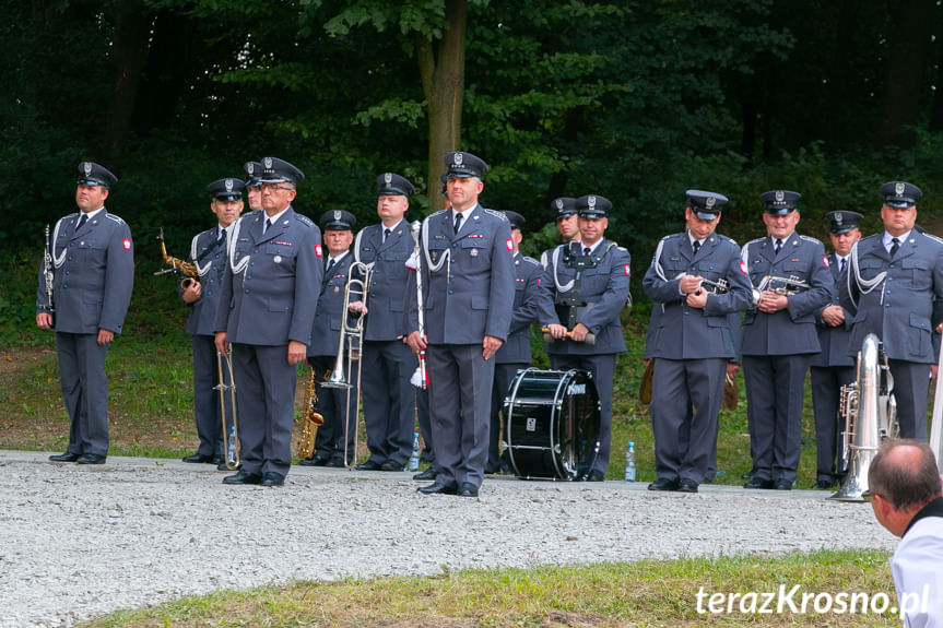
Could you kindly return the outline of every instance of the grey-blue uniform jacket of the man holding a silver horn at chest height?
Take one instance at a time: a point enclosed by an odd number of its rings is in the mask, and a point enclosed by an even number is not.
[[[789,307],[775,313],[748,309],[743,318],[743,355],[798,355],[818,353],[815,312],[832,303],[835,282],[828,272],[825,247],[795,232],[774,253],[769,237],[743,247],[743,263],[755,287],[766,276],[795,277],[810,287],[789,297]]]

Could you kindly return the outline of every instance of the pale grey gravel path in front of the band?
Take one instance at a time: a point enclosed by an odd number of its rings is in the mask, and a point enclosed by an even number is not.
[[[47,455],[0,450],[2,628],[294,579],[896,544],[867,505],[821,491],[497,477],[467,499],[422,496],[405,473],[293,467],[281,488],[224,487],[210,465]]]

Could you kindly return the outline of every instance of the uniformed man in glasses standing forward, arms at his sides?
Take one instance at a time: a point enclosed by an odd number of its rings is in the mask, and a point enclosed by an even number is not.
[[[321,232],[292,209],[304,176],[285,161],[262,159],[262,211],[236,221],[228,239],[213,327],[216,349],[233,347],[243,467],[225,484],[281,486],[292,464],[297,364],[323,276]]]

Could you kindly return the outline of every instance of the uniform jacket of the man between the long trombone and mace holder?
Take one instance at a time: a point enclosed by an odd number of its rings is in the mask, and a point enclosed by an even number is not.
[[[410,281],[406,260],[414,246],[410,224],[404,220],[390,232],[386,242],[382,224],[364,227],[357,234],[354,258],[358,262],[373,264],[364,340],[392,341],[405,335],[403,305],[406,303]]]

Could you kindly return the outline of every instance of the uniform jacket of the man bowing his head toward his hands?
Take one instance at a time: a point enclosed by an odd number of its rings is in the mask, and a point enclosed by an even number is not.
[[[735,321],[739,327],[739,320],[729,315],[746,309],[753,296],[750,279],[740,263],[740,247],[726,236],[711,234],[695,254],[687,232],[682,232],[665,236],[660,248],[661,254],[652,258],[643,280],[645,294],[652,300],[655,321],[646,357],[734,358],[739,330],[732,329],[731,323]],[[682,274],[700,275],[712,282],[724,280],[728,292],[708,294],[704,309],[691,308],[677,288],[676,277]],[[704,288],[710,293],[710,288]]]

